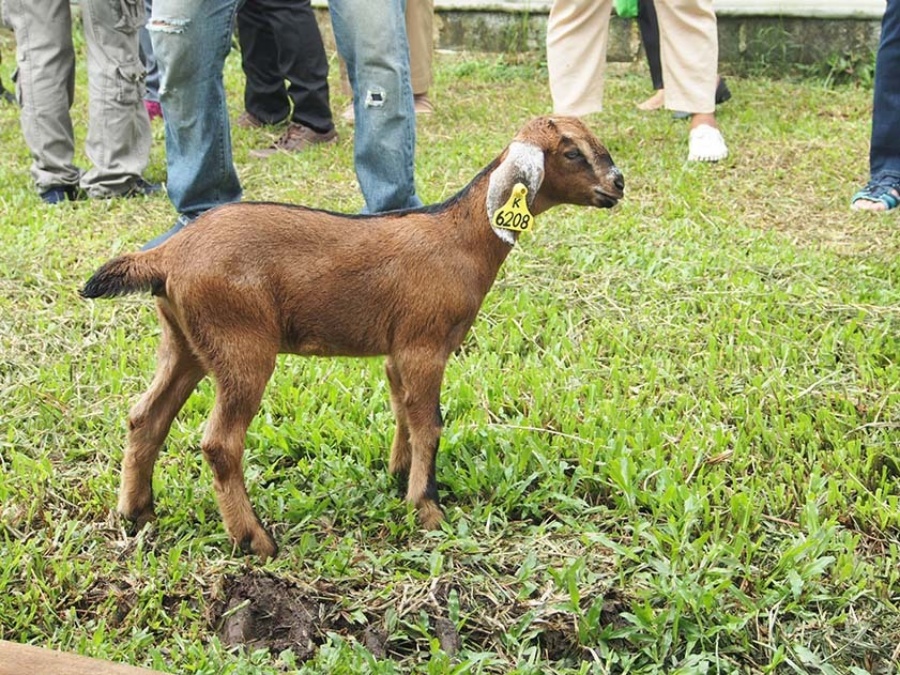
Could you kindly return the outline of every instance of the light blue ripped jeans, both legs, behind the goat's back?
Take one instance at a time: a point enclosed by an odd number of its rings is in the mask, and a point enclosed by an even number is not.
[[[241,198],[223,69],[239,0],[153,0],[147,29],[160,70],[169,198],[192,219]],[[421,204],[413,179],[415,113],[405,0],[331,0],[354,96],[354,163],[366,212]],[[302,184],[303,177],[297,180]],[[315,195],[304,201],[316,205]]]

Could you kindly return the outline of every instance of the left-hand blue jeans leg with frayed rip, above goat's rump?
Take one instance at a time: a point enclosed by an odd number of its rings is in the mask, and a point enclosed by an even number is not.
[[[153,0],[147,24],[166,125],[166,187],[188,218],[241,198],[223,80],[238,4]]]

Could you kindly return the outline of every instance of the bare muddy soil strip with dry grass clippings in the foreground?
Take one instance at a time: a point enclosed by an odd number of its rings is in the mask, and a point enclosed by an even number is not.
[[[469,617],[464,636],[447,618],[451,589]],[[534,605],[508,602],[502,597],[474,597],[463,587],[436,580],[405,588],[401,597],[393,600],[386,601],[380,593],[368,601],[360,598],[353,611],[346,606],[348,595],[365,596],[365,592],[328,584],[301,587],[286,579],[248,573],[223,579],[209,606],[209,616],[219,638],[229,646],[269,649],[273,654],[290,650],[298,661],[305,661],[315,655],[329,633],[338,633],[365,645],[378,659],[402,662],[427,652],[428,640],[434,638],[451,657],[459,654],[464,645],[478,651],[499,649],[501,626],[515,625],[525,614],[537,611],[542,615],[539,639],[547,658],[584,657],[577,633],[573,632],[571,614],[543,606],[542,601]],[[616,595],[608,595],[601,623],[620,623],[619,613],[624,607]],[[389,614],[401,621],[419,622],[427,617],[429,635],[413,635],[404,630],[388,632],[385,621]],[[360,615],[365,617],[362,622]],[[484,619],[483,625],[479,617]]]

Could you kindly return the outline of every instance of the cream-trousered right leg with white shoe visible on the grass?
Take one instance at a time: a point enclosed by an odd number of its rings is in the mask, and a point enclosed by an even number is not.
[[[689,160],[728,156],[716,123],[719,37],[712,0],[669,0],[656,6],[666,107],[691,114]]]

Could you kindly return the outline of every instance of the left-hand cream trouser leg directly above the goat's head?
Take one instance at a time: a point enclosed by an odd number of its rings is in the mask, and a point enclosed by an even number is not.
[[[612,0],[556,0],[547,20],[547,70],[553,110],[587,115],[603,109]]]

